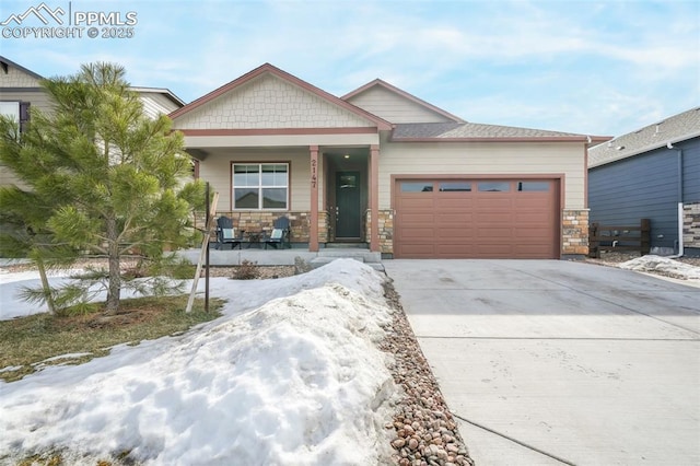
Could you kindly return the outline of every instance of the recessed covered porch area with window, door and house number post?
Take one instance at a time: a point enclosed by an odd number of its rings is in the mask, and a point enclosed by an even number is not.
[[[308,145],[288,140],[273,145],[271,137],[265,145],[250,140],[223,145],[220,138],[184,132],[195,175],[219,193],[217,217],[231,218],[238,233],[269,232],[284,215],[295,251],[347,245],[381,252],[371,221],[378,211],[376,132]]]

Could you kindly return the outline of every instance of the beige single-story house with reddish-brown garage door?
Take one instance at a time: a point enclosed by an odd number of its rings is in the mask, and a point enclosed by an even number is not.
[[[587,254],[586,150],[609,138],[466,123],[375,80],[336,97],[269,63],[173,112],[218,213],[396,258]]]

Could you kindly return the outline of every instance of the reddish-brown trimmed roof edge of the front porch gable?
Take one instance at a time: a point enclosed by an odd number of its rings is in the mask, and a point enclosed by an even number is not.
[[[375,124],[377,126],[377,129],[380,130],[388,130],[392,129],[392,124],[386,121],[385,119],[380,118],[376,115],[373,115],[355,105],[352,105],[349,102],[346,102],[341,98],[336,97],[332,94],[329,94],[328,92],[316,88],[313,84],[307,83],[306,81],[303,81],[290,73],[288,73],[287,71],[282,71],[281,69],[270,65],[270,63],[264,63],[261,66],[259,66],[258,68],[254,69],[253,71],[247,72],[246,74],[243,74],[242,77],[231,81],[228,84],[222,85],[219,89],[215,89],[213,91],[211,91],[210,93],[197,98],[196,101],[192,101],[191,103],[185,105],[182,108],[178,108],[177,110],[173,112],[172,114],[170,114],[170,117],[175,119],[178,118],[205,104],[207,104],[208,102],[211,102],[213,100],[215,100],[217,97],[228,93],[229,91],[232,91],[241,85],[244,85],[248,82],[250,82],[252,80],[264,75],[264,74],[272,74],[276,75],[277,78],[280,78],[284,81],[288,81],[296,86],[300,86],[302,89],[304,89],[307,92],[311,92],[313,94],[316,94],[317,96],[319,96],[320,98],[329,102],[330,104],[337,105],[339,107],[345,108],[346,110],[349,110],[350,113],[353,113],[362,118],[365,118],[370,121],[372,121],[373,124]]]

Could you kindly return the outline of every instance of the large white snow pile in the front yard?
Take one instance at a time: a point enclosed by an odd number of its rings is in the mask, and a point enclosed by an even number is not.
[[[36,277],[11,276],[0,275],[1,318],[32,312],[7,295]],[[382,282],[350,259],[212,279],[228,300],[214,322],[0,382],[0,458],[58,447],[70,464],[125,451],[149,465],[386,463],[396,387],[376,347],[390,319]]]

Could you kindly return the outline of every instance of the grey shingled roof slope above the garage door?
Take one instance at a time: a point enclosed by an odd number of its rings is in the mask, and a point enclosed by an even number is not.
[[[582,141],[600,142],[609,138],[586,136],[575,132],[548,131],[544,129],[518,128],[513,126],[482,125],[476,123],[417,123],[398,124],[393,133],[393,141],[428,142],[428,141]]]

